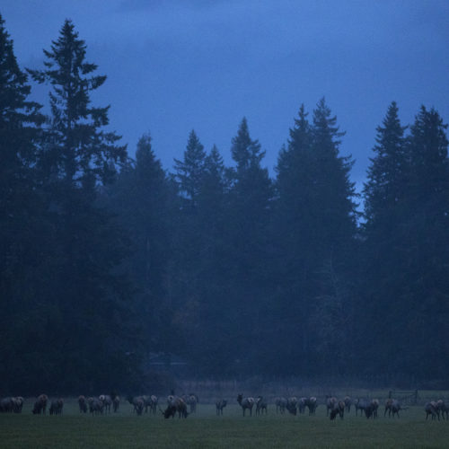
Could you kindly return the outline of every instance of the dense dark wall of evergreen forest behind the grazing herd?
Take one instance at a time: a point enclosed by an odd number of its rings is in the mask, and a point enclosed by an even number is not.
[[[72,22],[44,57],[21,68],[0,17],[2,394],[132,389],[150,353],[198,377],[447,379],[436,110],[406,126],[392,101],[360,194],[324,99],[286,124],[274,177],[244,118],[232,166],[192,130],[167,171],[149,134],[131,158],[92,105],[106,76]]]

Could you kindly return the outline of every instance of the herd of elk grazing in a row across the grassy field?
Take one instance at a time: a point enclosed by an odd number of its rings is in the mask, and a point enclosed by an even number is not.
[[[194,393],[184,394],[182,396],[176,396],[170,394],[166,400],[166,407],[162,409],[158,397],[155,395],[142,395],[142,396],[128,396],[128,402],[132,405],[132,411],[136,415],[140,416],[143,413],[150,413],[155,415],[157,409],[159,409],[164,418],[187,418],[189,414],[195,413],[198,406],[198,396]],[[255,409],[255,415],[267,415],[269,409],[269,401],[263,396],[257,397],[244,397],[243,394],[237,396],[237,402],[242,407],[243,417],[246,412],[252,416],[252,409]],[[8,397],[0,399],[0,413],[22,413],[24,399],[22,396]],[[349,396],[339,400],[335,396],[326,396],[325,402],[326,416],[330,420],[334,420],[339,416],[343,419],[345,412],[349,413],[351,407],[354,406],[356,410],[356,416],[365,416],[365,418],[377,418],[378,409],[380,407],[380,401],[377,399],[368,400],[365,398],[357,398],[353,401]],[[49,406],[48,406],[49,405]],[[98,397],[85,397],[83,395],[78,397],[78,407],[80,413],[89,413],[91,415],[109,414],[111,411],[117,413],[119,411],[120,398],[117,394],[101,394]],[[227,405],[225,399],[216,401],[216,415],[223,415],[224,409]],[[290,396],[288,398],[280,396],[274,399],[274,405],[276,406],[276,413],[285,414],[286,411],[292,415],[304,414],[308,411],[310,416],[315,415],[318,408],[318,400],[315,396],[301,397]],[[48,413],[50,415],[62,415],[64,408],[64,400],[57,398],[49,401],[46,394],[40,394],[34,401],[34,405],[31,409],[35,415],[46,414],[48,406]],[[388,414],[389,418],[400,417],[400,411],[407,409],[402,407],[400,401],[394,399],[387,399],[384,404],[383,417]],[[449,420],[449,406],[445,401],[429,401],[425,407],[426,419],[431,418],[433,420],[443,418]]]

